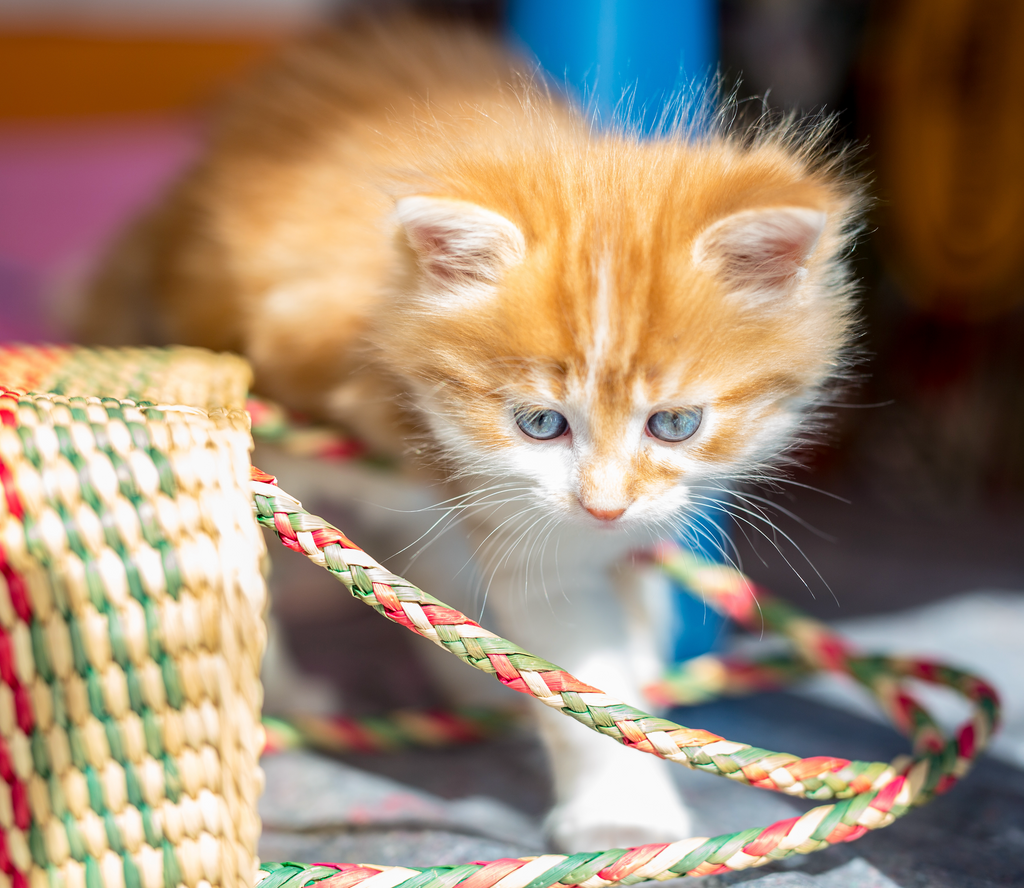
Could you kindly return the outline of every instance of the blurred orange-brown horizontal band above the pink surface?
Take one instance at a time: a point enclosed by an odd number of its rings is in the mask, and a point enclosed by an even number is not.
[[[282,39],[0,33],[0,120],[193,111]]]

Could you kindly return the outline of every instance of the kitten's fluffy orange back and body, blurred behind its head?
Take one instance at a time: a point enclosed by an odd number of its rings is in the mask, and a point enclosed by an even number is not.
[[[453,138],[521,128],[530,103],[549,123],[568,116],[469,27],[355,17],[290,47],[236,90],[203,158],[115,245],[80,338],[238,351],[259,388],[323,414],[392,277],[390,192],[429,184]]]

